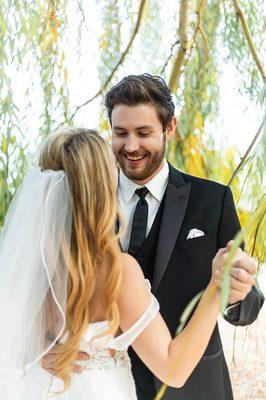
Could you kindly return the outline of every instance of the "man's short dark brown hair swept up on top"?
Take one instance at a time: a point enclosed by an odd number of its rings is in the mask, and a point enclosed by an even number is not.
[[[110,123],[112,123],[112,112],[116,105],[135,106],[141,103],[154,105],[165,131],[174,116],[175,105],[164,79],[150,74],[128,75],[109,90],[105,105]]]

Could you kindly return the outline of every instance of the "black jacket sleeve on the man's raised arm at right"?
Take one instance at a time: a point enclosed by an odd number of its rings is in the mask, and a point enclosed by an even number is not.
[[[232,192],[229,187],[226,187],[218,230],[218,247],[225,247],[229,240],[232,240],[240,229],[241,227],[237,217]],[[228,307],[224,318],[235,326],[250,325],[257,319],[263,302],[264,296],[262,292],[259,288],[253,286],[252,290],[243,301]]]

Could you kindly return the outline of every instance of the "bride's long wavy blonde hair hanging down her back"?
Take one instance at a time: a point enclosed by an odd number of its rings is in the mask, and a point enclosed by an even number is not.
[[[110,321],[119,325],[117,297],[121,286],[117,175],[110,146],[93,130],[76,128],[52,135],[40,155],[42,170],[64,170],[72,196],[72,237],[68,273],[67,341],[57,354],[56,372],[65,388],[80,340],[92,322],[95,298]]]

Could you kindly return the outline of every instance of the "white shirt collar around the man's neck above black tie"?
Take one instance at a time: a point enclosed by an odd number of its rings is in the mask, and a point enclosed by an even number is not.
[[[146,188],[149,192],[158,200],[162,201],[162,198],[165,193],[165,189],[168,183],[169,178],[169,165],[164,160],[163,168],[155,175],[148,183],[146,183]],[[131,181],[120,169],[119,172],[119,189],[120,193],[124,199],[124,202],[127,204],[134,196],[134,193],[137,188],[140,186],[135,182]]]

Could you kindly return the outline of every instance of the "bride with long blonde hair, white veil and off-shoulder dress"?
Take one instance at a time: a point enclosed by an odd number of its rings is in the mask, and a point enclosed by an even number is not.
[[[181,387],[219,313],[216,275],[174,339],[138,263],[122,254],[117,172],[94,131],[69,129],[44,144],[0,238],[1,400],[136,400],[127,349],[167,385]],[[53,374],[41,359],[56,343]],[[89,360],[72,364],[82,350]]]

